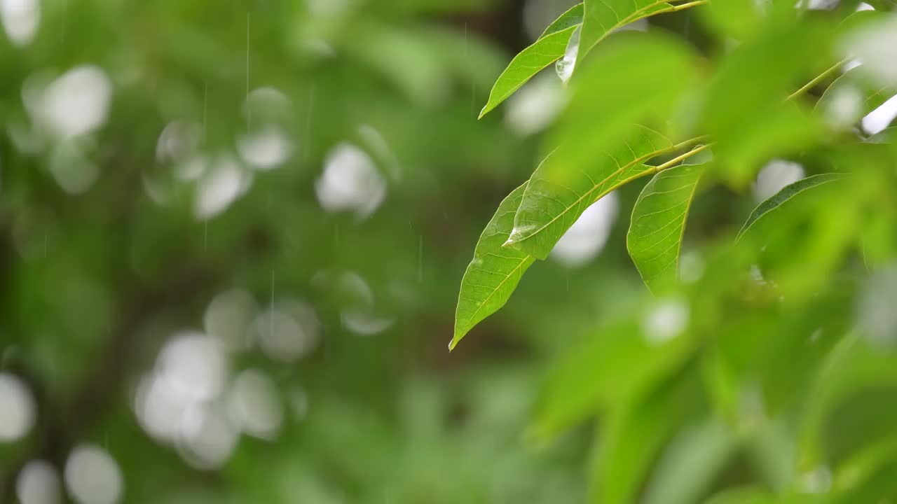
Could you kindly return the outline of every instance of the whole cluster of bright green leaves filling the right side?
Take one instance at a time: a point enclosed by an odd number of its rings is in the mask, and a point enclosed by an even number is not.
[[[897,499],[897,320],[884,308],[897,143],[858,126],[897,94],[897,62],[880,56],[895,18],[872,4],[586,0],[495,83],[481,116],[545,67],[574,65],[544,161],[476,244],[450,348],[588,206],[650,177],[626,245],[653,295],[562,356],[536,406],[539,439],[600,413],[593,501]],[[617,31],[692,8],[718,39],[709,54]],[[847,57],[863,65],[842,72]],[[777,158],[809,176],[688,241],[692,205],[733,199]]]

